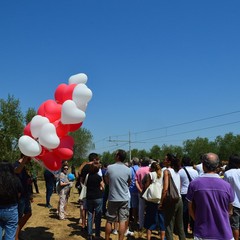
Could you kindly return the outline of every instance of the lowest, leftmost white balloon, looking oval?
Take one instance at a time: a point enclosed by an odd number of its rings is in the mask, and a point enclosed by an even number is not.
[[[23,135],[18,140],[20,151],[29,157],[36,157],[42,152],[41,145],[33,138]]]

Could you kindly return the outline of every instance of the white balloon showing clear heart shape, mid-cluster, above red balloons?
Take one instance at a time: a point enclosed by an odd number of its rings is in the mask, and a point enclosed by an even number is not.
[[[76,124],[83,122],[86,114],[76,106],[72,100],[67,100],[62,105],[61,122],[63,124]]]

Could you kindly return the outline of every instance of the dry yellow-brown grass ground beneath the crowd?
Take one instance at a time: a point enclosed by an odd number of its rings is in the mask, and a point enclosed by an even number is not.
[[[72,188],[69,203],[68,217],[65,221],[57,218],[58,195],[54,193],[51,198],[52,209],[45,207],[45,183],[38,181],[40,194],[34,194],[34,202],[32,203],[33,215],[21,232],[23,240],[80,240],[86,239],[86,232],[81,231],[79,225],[79,205],[77,204],[77,189]],[[101,236],[104,237],[105,219],[102,220]],[[133,237],[129,239],[146,239],[146,234],[139,235],[134,232]],[[117,236],[111,235],[113,240],[117,240]],[[159,239],[157,233],[153,234],[152,239]],[[175,238],[178,239],[178,238]]]

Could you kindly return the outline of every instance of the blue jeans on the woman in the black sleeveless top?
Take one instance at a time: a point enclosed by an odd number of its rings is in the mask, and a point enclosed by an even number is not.
[[[101,229],[101,218],[102,218],[102,203],[103,199],[87,199],[87,211],[88,211],[88,220],[87,220],[87,229],[88,235],[93,233],[93,213],[95,212],[95,235],[100,237]]]

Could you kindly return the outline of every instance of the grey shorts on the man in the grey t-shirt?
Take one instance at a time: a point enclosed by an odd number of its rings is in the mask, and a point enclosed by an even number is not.
[[[106,218],[108,222],[122,222],[127,221],[129,217],[129,202],[108,202]]]

